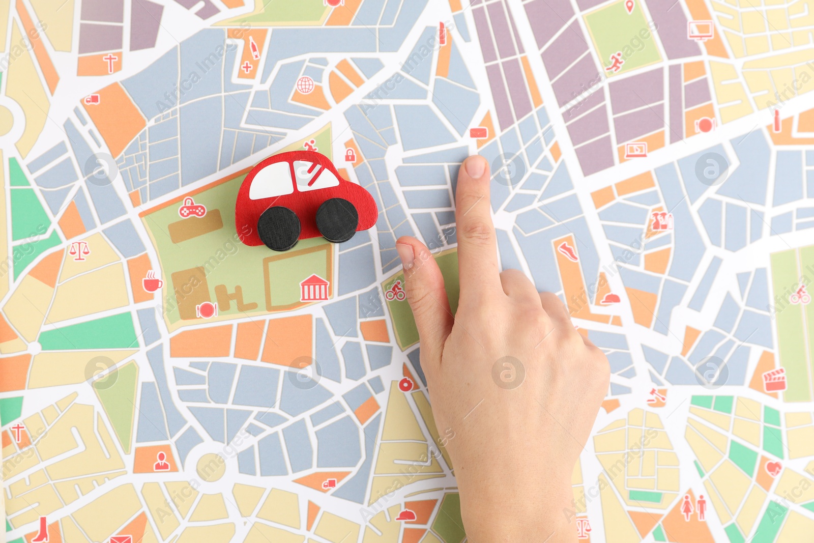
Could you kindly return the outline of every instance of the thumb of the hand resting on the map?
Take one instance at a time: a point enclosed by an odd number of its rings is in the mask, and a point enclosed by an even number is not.
[[[396,250],[405,270],[405,290],[421,339],[422,355],[438,364],[454,322],[444,276],[430,250],[418,239],[402,236],[396,241]]]

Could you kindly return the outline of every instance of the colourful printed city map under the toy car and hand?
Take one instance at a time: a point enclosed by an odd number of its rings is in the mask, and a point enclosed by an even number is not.
[[[474,153],[610,363],[578,541],[814,541],[812,41],[812,0],[0,0],[5,541],[466,541],[395,246],[454,311]],[[374,228],[243,245],[296,150]]]

